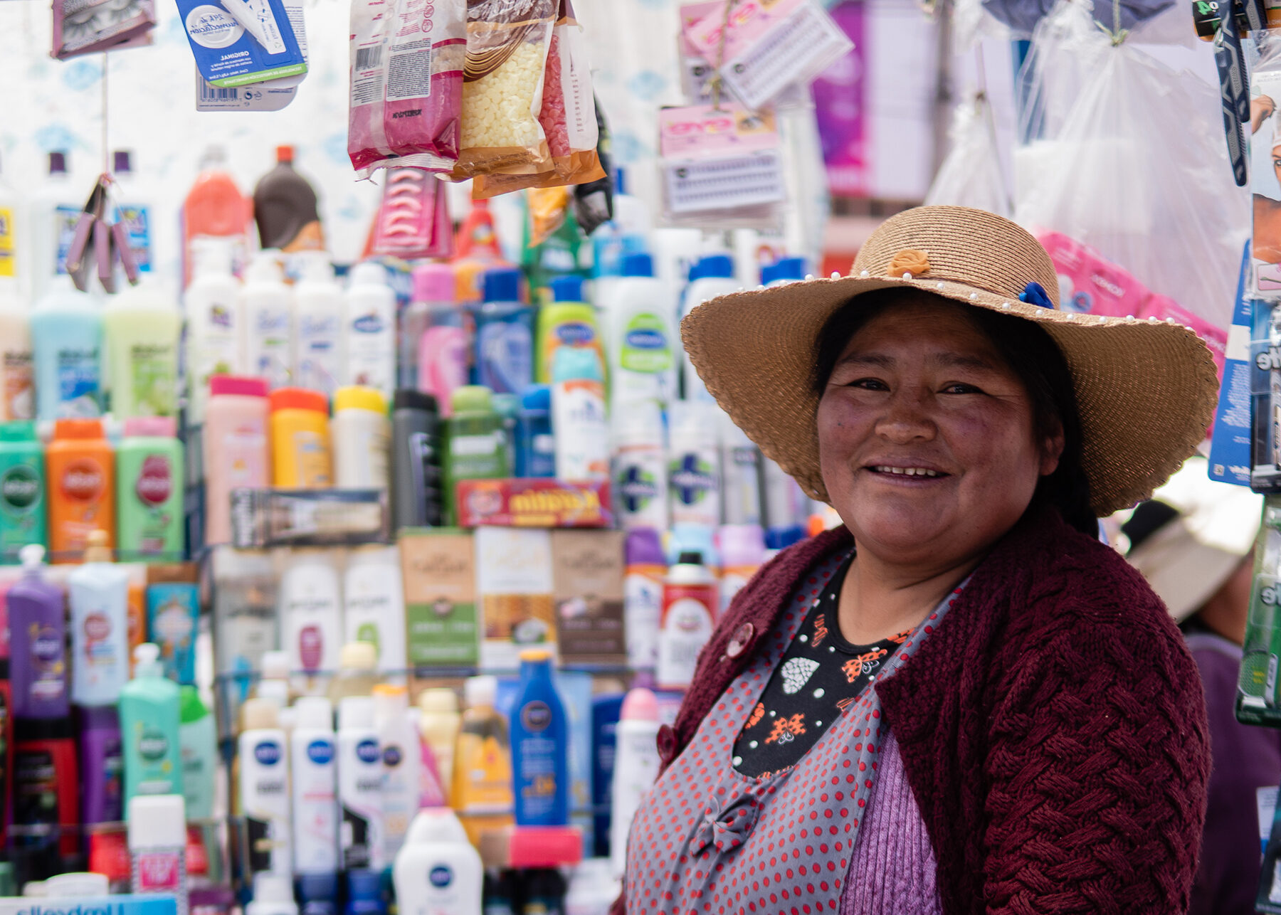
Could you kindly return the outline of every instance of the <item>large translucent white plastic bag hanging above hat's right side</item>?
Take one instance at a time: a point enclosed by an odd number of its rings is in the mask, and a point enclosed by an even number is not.
[[[1041,22],[1034,46],[1041,85],[1029,114],[1043,138],[1016,150],[1016,219],[1089,245],[1152,292],[1227,328],[1249,210],[1232,182],[1214,88],[1071,4]]]

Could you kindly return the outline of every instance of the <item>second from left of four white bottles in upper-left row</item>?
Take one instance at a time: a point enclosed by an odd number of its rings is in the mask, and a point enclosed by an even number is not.
[[[293,378],[293,302],[281,273],[279,251],[259,251],[245,269],[241,314],[245,369],[273,388]]]

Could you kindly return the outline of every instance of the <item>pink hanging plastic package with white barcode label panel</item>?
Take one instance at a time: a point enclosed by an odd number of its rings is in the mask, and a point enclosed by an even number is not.
[[[450,172],[459,158],[466,0],[352,0],[347,155]]]

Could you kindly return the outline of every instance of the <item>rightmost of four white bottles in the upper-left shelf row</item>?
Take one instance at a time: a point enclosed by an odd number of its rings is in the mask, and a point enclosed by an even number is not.
[[[356,264],[342,302],[343,384],[396,392],[396,293],[378,264]]]

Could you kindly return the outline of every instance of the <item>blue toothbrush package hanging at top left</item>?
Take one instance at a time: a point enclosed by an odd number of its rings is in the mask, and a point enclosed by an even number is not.
[[[306,53],[283,0],[177,0],[200,77],[234,87],[297,78]]]

